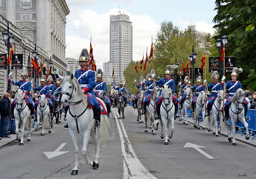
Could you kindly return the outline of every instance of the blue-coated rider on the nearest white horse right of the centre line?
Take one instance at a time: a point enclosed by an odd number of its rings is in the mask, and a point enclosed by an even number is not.
[[[160,80],[156,81],[156,85],[159,85],[159,84],[161,84],[162,86],[168,86],[169,85],[171,87],[171,89],[172,89],[172,101],[173,101],[173,104],[175,106],[175,110],[174,110],[175,111],[175,117],[174,117],[174,119],[177,119],[177,118],[180,118],[180,115],[177,114],[178,104],[179,104],[180,101],[177,97],[175,97],[173,95],[173,92],[174,92],[174,89],[175,89],[175,81],[170,78],[170,76],[171,76],[170,70],[172,70],[171,67],[172,67],[171,65],[166,66],[166,68],[168,70],[166,70],[164,72],[165,78],[161,78]],[[160,108],[161,108],[162,101],[163,101],[163,96],[162,96],[162,90],[161,90],[160,93],[159,93],[159,97],[156,99],[156,113],[157,113],[156,120],[161,119]]]

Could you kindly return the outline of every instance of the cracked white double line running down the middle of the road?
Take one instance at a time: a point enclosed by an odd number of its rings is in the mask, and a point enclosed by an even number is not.
[[[113,108],[112,108],[113,109]],[[118,113],[115,109],[115,118],[116,118],[116,124],[119,131],[119,136],[121,140],[121,149],[122,149],[122,155],[123,155],[123,162],[124,162],[124,179],[126,178],[151,178],[151,179],[157,179],[154,175],[152,175],[147,168],[145,168],[140,160],[137,158],[131,142],[128,138],[128,135],[126,133],[126,130],[124,128],[124,124],[121,119],[117,120]],[[122,130],[120,128],[119,122],[122,126],[124,136],[122,133]],[[126,146],[126,147],[125,147]],[[127,151],[127,152],[126,152]]]

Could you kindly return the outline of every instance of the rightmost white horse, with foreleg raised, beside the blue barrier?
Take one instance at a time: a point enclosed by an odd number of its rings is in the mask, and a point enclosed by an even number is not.
[[[244,91],[243,89],[237,89],[235,95],[231,98],[231,104],[229,107],[229,118],[230,118],[230,126],[229,126],[229,132],[228,132],[228,141],[231,142],[231,132],[233,133],[233,146],[236,146],[236,129],[235,129],[235,122],[242,122],[244,124],[244,127],[246,129],[246,136],[245,139],[249,140],[249,131],[248,131],[248,124],[245,121],[244,118]],[[222,119],[220,119],[223,125]],[[227,129],[227,122],[224,122]]]

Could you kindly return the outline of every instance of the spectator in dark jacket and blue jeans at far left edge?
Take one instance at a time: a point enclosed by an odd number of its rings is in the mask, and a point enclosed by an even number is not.
[[[4,93],[4,97],[0,101],[0,137],[4,139],[9,139],[11,136],[8,136],[8,128],[10,122],[10,94]]]

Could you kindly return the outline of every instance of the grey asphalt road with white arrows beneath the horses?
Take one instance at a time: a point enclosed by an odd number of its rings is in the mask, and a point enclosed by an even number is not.
[[[145,122],[137,122],[137,110],[126,107],[124,119],[117,119],[117,108],[110,115],[111,136],[100,150],[100,167],[93,170],[81,154],[82,135],[78,135],[78,175],[70,175],[74,167],[73,144],[63,124],[54,124],[52,133],[31,132],[31,142],[24,139],[0,148],[0,178],[255,178],[255,147],[237,142],[232,146],[228,138],[215,137],[207,130],[174,122],[174,135],[169,145],[160,138],[161,128],[152,135],[145,133]],[[159,125],[160,126],[160,125]],[[170,129],[169,129],[170,131]],[[120,137],[121,136],[121,137]],[[65,145],[64,145],[64,144]],[[188,143],[205,148],[184,147]],[[67,153],[48,159],[43,152],[53,152],[60,145]],[[202,154],[203,153],[203,154]],[[208,155],[207,155],[208,154]],[[88,156],[94,159],[92,140]],[[212,158],[208,158],[208,157]],[[239,176],[247,175],[247,176]]]

